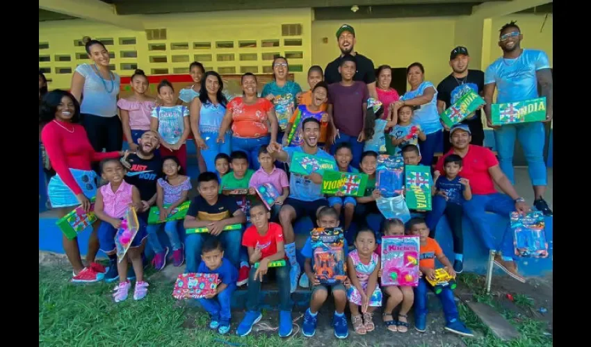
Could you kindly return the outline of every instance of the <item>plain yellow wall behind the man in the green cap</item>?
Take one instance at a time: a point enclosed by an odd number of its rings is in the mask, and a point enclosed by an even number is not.
[[[337,29],[343,21],[312,22],[312,64],[326,67],[339,56]],[[450,73],[449,52],[454,48],[453,18],[396,18],[346,21],[355,28],[355,51],[373,60],[375,67],[407,67],[421,62],[425,79],[435,85]],[[328,42],[323,43],[327,37]]]

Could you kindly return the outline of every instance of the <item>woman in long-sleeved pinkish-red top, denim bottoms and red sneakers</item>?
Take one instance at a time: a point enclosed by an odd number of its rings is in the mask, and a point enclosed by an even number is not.
[[[80,105],[69,92],[54,90],[45,95],[39,119],[47,122],[41,131],[41,141],[51,167],[56,170],[56,176],[47,185],[51,207],[58,211],[58,218],[78,205],[82,205],[85,211],[90,210],[90,199],[97,194],[97,175],[90,168],[90,163],[106,158],[119,158],[124,153],[97,153],[92,149],[86,130],[80,124]],[[68,239],[63,235],[63,247],[74,268],[73,282],[96,282],[104,277],[106,269],[95,263],[99,251],[99,224],[96,222],[93,225],[90,234],[86,268],[80,259],[78,240]]]

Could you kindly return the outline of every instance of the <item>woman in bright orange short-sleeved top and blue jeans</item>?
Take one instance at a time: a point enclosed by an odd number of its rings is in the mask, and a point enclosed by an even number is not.
[[[223,134],[232,124],[232,151],[245,152],[250,167],[257,170],[261,146],[277,143],[277,117],[273,104],[257,95],[257,76],[247,72],[241,83],[243,96],[228,103],[217,142],[225,142]]]

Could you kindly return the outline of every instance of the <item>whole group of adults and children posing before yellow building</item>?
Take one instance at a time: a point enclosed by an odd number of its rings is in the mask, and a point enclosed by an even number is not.
[[[399,96],[390,87],[391,68],[382,65],[377,73],[373,62],[353,50],[353,27],[337,31],[341,56],[325,71],[313,66],[308,71],[310,89],[303,92],[288,80],[286,58],[273,60],[274,81],[258,94],[257,77],[244,74],[243,94],[229,96],[216,71],[204,71],[193,62],[190,73],[195,82],[178,92],[168,81],[157,87],[157,99],[146,94],[148,78],[137,70],[131,76],[133,95],[117,98],[120,79],[108,70],[108,51],[102,42],[88,40],[86,51],[93,64],[79,65],[72,77],[70,92],[47,92],[47,81],[40,74],[40,142],[49,178],[51,208],[61,216],[78,205],[94,210],[99,221],[90,236],[86,265],[76,239],[63,237],[65,253],[73,267],[73,282],[119,280],[113,295],[116,302],[127,299],[131,280],[136,279],[133,298],[147,295],[143,278],[145,244],[155,253],[153,266],[161,270],[172,251],[174,266],[186,261],[186,272],[218,273],[217,294],[200,299],[211,315],[211,328],[229,331],[229,298],[236,287],[248,284],[248,312],[238,325],[238,335],[248,335],[261,319],[260,283],[268,272],[275,273],[280,287],[280,336],[291,334],[290,294],[299,284],[311,287],[310,308],[305,314],[303,332],[314,335],[316,314],[329,291],[335,300],[334,334],[347,337],[343,312],[349,303],[355,332],[365,334],[375,328],[372,312],[382,305],[378,283],[380,235],[417,235],[421,239],[420,268],[423,276],[433,276],[435,258],[450,273],[463,269],[462,214],[473,223],[486,246],[495,251],[495,262],[513,278],[524,281],[513,259],[509,226],[501,244],[495,244],[485,212],[507,217],[515,210],[529,210],[512,185],[512,151],[517,137],[529,162],[537,210],[551,214],[543,199],[546,169],[543,160],[544,126],[541,122],[495,128],[499,160],[483,147],[480,110],[452,128],[446,128],[439,115],[460,96],[474,90],[484,96],[490,124],[490,104],[495,88],[498,102],[515,102],[541,96],[547,98],[547,121],[552,118],[552,79],[548,58],[542,51],[521,49],[522,39],[515,23],[501,28],[499,46],[503,57],[483,74],[469,70],[465,47],[451,51],[453,72],[437,88],[424,80],[424,69],[414,63],[407,69],[411,90]],[[119,110],[119,112],[118,112]],[[376,119],[384,128],[375,131]],[[197,197],[191,201],[184,222],[165,221],[179,205],[188,201],[193,189],[184,175],[187,167],[186,140],[193,135],[201,174],[197,177]],[[434,171],[433,209],[412,211],[406,224],[384,220],[380,230],[371,230],[369,214],[380,214],[376,199],[375,171],[378,151],[369,143],[373,137],[385,138],[383,153],[402,156],[405,164],[431,166],[435,153],[444,144],[449,149],[439,158]],[[121,151],[122,139],[130,151]],[[105,151],[103,151],[103,149]],[[330,150],[330,153],[328,152]],[[322,176],[289,172],[294,153],[331,160],[344,172],[369,176],[364,196],[325,196]],[[500,163],[499,163],[500,162]],[[99,180],[100,176],[100,180]],[[97,188],[99,181],[102,186]],[[270,210],[257,201],[254,189],[270,184],[280,192]],[[498,185],[504,194],[496,192]],[[248,189],[246,196],[229,195],[232,189]],[[147,225],[150,208],[159,209],[163,223]],[[117,262],[114,237],[128,208],[138,214],[141,228],[133,239],[127,257]],[[304,273],[296,260],[293,224],[309,217],[321,227],[337,227],[343,214],[343,229],[352,245],[347,246],[348,280],[342,285],[320,285],[314,278],[310,239],[300,253],[306,258]],[[437,222],[446,214],[452,227],[455,259],[453,264],[435,242]],[[249,218],[247,218],[249,217]],[[353,223],[357,233],[350,232]],[[239,230],[227,226],[242,225]],[[158,238],[161,226],[170,239],[170,250]],[[184,239],[179,232],[207,228]],[[102,249],[108,266],[95,262]],[[284,266],[268,268],[275,260]],[[131,267],[128,269],[128,263]],[[300,277],[301,275],[301,277]],[[410,287],[384,287],[389,296],[384,322],[392,332],[406,332],[407,312],[414,302],[416,330],[426,330],[426,293],[430,287],[421,279],[414,291]],[[330,289],[330,290],[329,290]],[[462,335],[471,332],[458,319],[453,296],[439,294],[446,314],[446,328]],[[416,300],[415,300],[416,299]],[[398,319],[393,310],[401,303]],[[361,310],[359,310],[361,307]]]

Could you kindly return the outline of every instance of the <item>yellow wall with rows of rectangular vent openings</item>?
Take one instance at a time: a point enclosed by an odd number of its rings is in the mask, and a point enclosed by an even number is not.
[[[277,53],[289,58],[290,69],[301,70],[292,71],[295,81],[302,86],[307,85],[306,72],[311,64],[309,8],[289,12],[228,11],[151,15],[146,18],[147,28],[166,29],[165,40],[147,40],[145,32],[129,31],[83,19],[40,22],[39,67],[49,69],[46,76],[51,79],[50,89],[69,88],[71,71],[77,65],[88,62],[88,58],[83,57],[84,47],[75,44],[83,36],[113,40],[113,44],[107,45],[107,49],[115,53],[111,64],[114,65],[114,71],[121,76],[133,74],[135,66],[131,64],[137,64],[146,74],[186,74],[189,64],[194,60],[202,62],[206,69],[215,69],[220,74],[242,74],[246,71],[270,73],[273,53]],[[301,24],[301,35],[282,36],[282,24]],[[135,38],[136,42],[124,44],[126,42],[122,39],[125,38]],[[275,41],[277,46],[264,47],[264,41],[273,45]],[[210,42],[211,47],[195,48],[195,42]],[[232,42],[233,47],[221,48],[216,42]],[[252,42],[256,42],[256,47],[250,47]],[[46,43],[49,48],[42,48]],[[162,48],[165,50],[153,50]],[[136,52],[137,58],[122,58],[122,52]],[[50,61],[42,61],[47,60],[47,56]],[[58,56],[70,56],[71,60],[57,61],[60,58]],[[234,60],[228,60],[229,58]],[[70,68],[71,71],[62,68]]]

